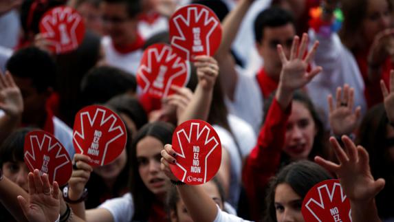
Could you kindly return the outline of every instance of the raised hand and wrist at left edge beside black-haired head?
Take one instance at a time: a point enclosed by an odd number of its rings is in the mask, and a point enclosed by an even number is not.
[[[9,71],[5,75],[0,71],[0,109],[5,113],[0,118],[0,142],[3,142],[21,124],[23,112],[21,91]]]

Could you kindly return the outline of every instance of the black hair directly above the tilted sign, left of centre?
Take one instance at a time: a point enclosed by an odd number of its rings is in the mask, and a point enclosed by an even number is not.
[[[105,103],[113,96],[127,91],[135,92],[135,76],[116,67],[94,67],[81,82],[83,106]]]

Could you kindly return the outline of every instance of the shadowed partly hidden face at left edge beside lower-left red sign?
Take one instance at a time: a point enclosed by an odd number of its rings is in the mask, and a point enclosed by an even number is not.
[[[4,177],[7,177],[28,192],[28,174],[30,171],[25,162],[5,162],[1,170],[3,170]]]

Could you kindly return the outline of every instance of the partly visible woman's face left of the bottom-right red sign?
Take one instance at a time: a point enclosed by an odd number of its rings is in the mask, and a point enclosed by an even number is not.
[[[275,212],[278,222],[304,221],[301,213],[303,200],[294,192],[289,184],[279,184],[275,189]]]

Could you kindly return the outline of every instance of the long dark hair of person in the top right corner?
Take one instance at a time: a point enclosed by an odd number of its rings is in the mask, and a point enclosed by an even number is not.
[[[344,21],[339,31],[342,43],[348,47],[351,52],[360,50],[365,45],[362,39],[362,21],[365,19],[368,10],[368,3],[372,0],[347,0],[341,1],[341,10],[344,15]],[[388,9],[392,11],[393,3],[387,1]]]

